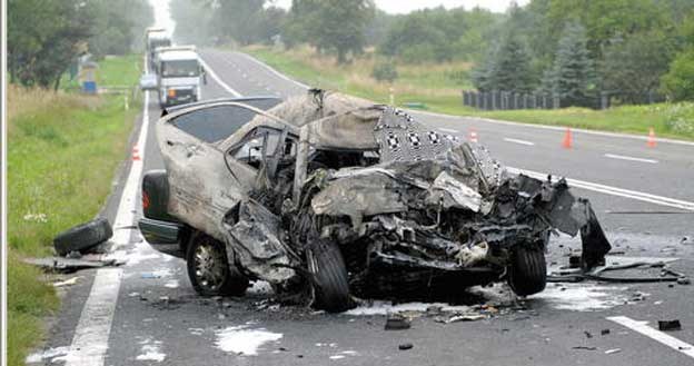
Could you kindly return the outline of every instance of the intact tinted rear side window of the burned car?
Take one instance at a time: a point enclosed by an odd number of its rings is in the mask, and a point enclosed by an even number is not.
[[[241,106],[215,106],[176,117],[174,126],[205,142],[217,142],[248,123],[256,112]]]

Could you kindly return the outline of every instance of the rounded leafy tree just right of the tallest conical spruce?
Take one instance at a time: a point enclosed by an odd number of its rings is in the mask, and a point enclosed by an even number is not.
[[[601,63],[603,89],[617,91],[625,100],[641,102],[657,90],[667,72],[674,44],[662,32],[643,32],[615,41],[604,52]]]

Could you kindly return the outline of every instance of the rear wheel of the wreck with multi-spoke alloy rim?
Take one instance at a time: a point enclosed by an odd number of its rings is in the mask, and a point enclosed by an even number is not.
[[[192,288],[201,296],[244,296],[249,280],[229,266],[224,243],[196,231],[186,251],[186,267]]]

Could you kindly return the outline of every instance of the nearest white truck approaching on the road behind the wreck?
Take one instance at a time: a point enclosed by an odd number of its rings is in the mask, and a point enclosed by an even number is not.
[[[195,47],[160,47],[153,60],[162,108],[201,99],[200,86],[207,78]]]

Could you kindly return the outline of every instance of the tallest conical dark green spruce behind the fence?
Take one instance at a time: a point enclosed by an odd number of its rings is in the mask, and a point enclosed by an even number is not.
[[[559,97],[562,106],[587,106],[591,102],[595,70],[586,44],[586,31],[581,22],[566,23],[552,71],[546,72],[543,80],[544,88]]]

